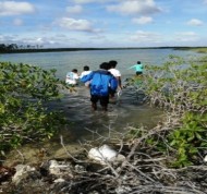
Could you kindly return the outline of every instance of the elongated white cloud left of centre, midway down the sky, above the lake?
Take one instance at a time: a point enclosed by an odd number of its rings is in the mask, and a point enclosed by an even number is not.
[[[61,27],[68,28],[70,31],[93,32],[92,24],[87,20],[62,17],[57,22]]]

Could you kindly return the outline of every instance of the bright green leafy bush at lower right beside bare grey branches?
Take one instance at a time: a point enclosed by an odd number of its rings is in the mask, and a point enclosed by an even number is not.
[[[178,149],[176,167],[192,165],[199,151],[207,148],[207,114],[185,112],[182,126],[173,130],[168,136],[170,146]]]

